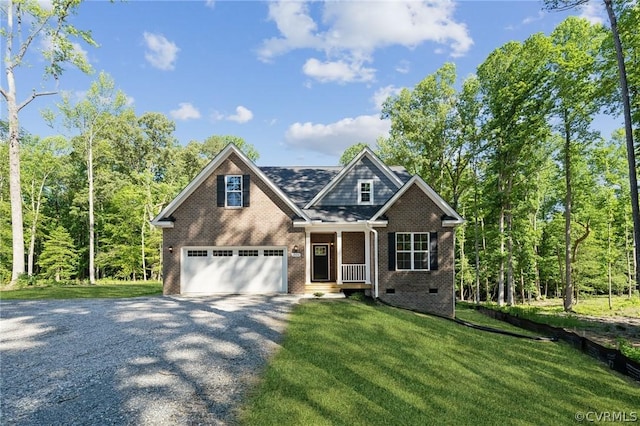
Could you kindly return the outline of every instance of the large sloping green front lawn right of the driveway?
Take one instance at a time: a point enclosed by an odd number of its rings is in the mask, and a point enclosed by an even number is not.
[[[564,343],[387,306],[295,307],[240,413],[248,425],[572,424],[638,412],[640,386]]]

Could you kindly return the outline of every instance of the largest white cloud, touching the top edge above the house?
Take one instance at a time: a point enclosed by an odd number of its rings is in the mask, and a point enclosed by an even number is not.
[[[453,57],[464,55],[473,40],[466,25],[453,18],[454,6],[452,1],[428,0],[326,1],[313,4],[321,14],[314,19],[307,2],[271,2],[268,18],[280,35],[264,40],[258,56],[270,61],[296,49],[320,50],[326,60],[307,60],[307,75],[323,82],[371,81],[375,70],[362,64],[382,47],[414,48],[430,41],[446,46]]]

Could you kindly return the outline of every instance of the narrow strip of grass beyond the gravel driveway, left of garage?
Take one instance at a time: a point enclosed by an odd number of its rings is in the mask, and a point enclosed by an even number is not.
[[[17,290],[2,290],[0,300],[126,298],[158,294],[162,294],[160,282],[122,281],[96,285],[28,286]]]

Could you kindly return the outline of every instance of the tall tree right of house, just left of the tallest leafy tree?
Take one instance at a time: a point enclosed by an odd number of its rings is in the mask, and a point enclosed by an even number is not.
[[[514,302],[514,194],[518,185],[535,184],[526,176],[539,167],[534,154],[549,133],[549,54],[547,37],[535,34],[524,43],[509,42],[494,50],[478,67],[489,151],[486,193],[493,194],[498,218],[498,304],[505,302],[505,273],[506,302]]]

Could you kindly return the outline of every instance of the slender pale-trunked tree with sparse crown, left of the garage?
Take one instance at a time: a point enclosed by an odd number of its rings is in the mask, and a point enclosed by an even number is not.
[[[66,128],[77,130],[76,142],[86,155],[89,204],[89,282],[95,284],[95,211],[94,211],[94,145],[104,139],[103,131],[114,115],[122,112],[126,96],[116,90],[115,82],[102,72],[91,85],[84,99],[72,103],[68,95],[58,105]]]

